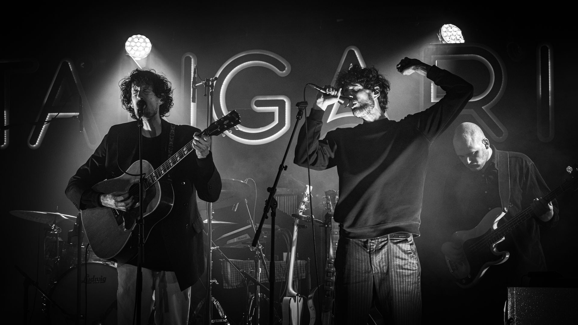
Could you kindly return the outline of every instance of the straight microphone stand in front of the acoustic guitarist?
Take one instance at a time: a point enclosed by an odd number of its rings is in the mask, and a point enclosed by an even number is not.
[[[137,104],[138,105],[138,104]],[[143,269],[142,263],[144,261],[144,217],[143,217],[143,111],[137,108],[136,115],[138,116],[138,127],[139,127],[139,161],[140,161],[140,176],[139,176],[139,217],[136,219],[136,224],[138,225],[138,258],[136,260],[136,324],[140,324],[140,311],[142,309],[142,297],[143,291]]]

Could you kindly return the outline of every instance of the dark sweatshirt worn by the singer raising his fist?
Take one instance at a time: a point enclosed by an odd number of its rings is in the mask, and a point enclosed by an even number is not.
[[[307,167],[309,156],[313,169],[337,167],[339,201],[334,219],[345,237],[420,234],[429,146],[460,114],[473,92],[464,79],[435,66],[427,77],[446,95],[423,112],[401,121],[381,119],[338,128],[319,140],[324,112],[312,110],[299,131],[295,164]]]

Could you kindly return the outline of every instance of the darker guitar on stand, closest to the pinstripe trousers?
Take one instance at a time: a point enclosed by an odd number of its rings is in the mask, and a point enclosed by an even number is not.
[[[323,305],[321,306],[321,324],[332,325],[334,323],[334,298],[335,298],[335,251],[339,241],[339,223],[333,219],[335,204],[338,200],[338,192],[335,190],[325,191],[325,200],[327,201],[327,213],[325,214],[325,228],[327,237],[327,261],[325,263],[324,276],[324,296]]]

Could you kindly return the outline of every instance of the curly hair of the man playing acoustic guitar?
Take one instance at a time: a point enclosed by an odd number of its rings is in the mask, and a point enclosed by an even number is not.
[[[132,108],[132,86],[151,86],[153,93],[162,99],[159,106],[161,117],[168,115],[173,107],[173,88],[171,82],[165,76],[158,74],[154,69],[141,70],[134,69],[129,76],[120,80],[120,100],[123,108],[131,113],[131,117],[136,120],[135,109]]]

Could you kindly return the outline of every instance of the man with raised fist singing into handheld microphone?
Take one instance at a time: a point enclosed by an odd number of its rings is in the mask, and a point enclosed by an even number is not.
[[[473,87],[416,59],[404,58],[397,69],[427,76],[446,95],[423,112],[392,121],[385,115],[388,80],[375,68],[353,65],[339,73],[335,87],[318,95],[295,147],[295,164],[336,166],[339,175],[336,324],[366,324],[374,298],[388,324],[421,321],[421,268],[413,237],[420,235],[428,149],[460,114]],[[324,110],[342,91],[363,123],[320,140]]]

